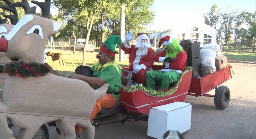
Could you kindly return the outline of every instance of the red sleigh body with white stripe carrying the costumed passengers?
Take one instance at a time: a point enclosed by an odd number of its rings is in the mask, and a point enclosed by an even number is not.
[[[153,66],[153,70],[159,70],[162,66]],[[185,71],[186,72],[186,71]],[[130,112],[142,113],[147,115],[150,108],[173,103],[176,101],[183,102],[188,94],[191,82],[192,70],[183,73],[180,82],[176,83],[176,91],[166,97],[153,96],[143,90],[132,90],[131,92],[125,89],[120,89],[120,99],[126,110]],[[159,91],[168,91],[171,88],[158,89]]]

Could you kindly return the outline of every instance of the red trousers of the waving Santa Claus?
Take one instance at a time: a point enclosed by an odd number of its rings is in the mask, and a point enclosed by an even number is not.
[[[132,71],[129,68],[122,68],[123,70],[128,70],[128,71]],[[132,80],[136,80],[136,82],[138,84],[143,84],[144,86],[146,86],[146,72],[147,70],[141,69],[138,73],[133,73],[132,72],[132,76],[131,79]],[[122,73],[122,75],[126,75],[126,73]]]

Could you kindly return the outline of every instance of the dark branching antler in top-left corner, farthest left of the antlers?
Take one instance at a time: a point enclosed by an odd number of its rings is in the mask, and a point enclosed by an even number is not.
[[[12,4],[12,2],[10,0],[2,0],[2,1],[4,1],[8,5]],[[9,18],[11,20],[12,24],[16,24],[18,22],[18,14],[17,14],[17,10],[15,7],[0,5],[0,8],[8,10],[13,13],[13,15],[2,14],[2,16],[5,17],[5,19],[0,19],[1,23],[6,23],[6,18]]]

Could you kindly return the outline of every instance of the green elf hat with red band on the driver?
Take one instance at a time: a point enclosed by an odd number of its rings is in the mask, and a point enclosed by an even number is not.
[[[105,54],[115,56],[116,44],[117,44],[116,48],[119,48],[122,44],[122,40],[119,36],[112,35],[102,44],[102,46],[100,47],[100,51]]]

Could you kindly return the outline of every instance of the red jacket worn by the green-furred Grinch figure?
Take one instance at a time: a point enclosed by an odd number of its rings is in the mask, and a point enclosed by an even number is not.
[[[159,62],[159,57],[165,57],[165,55],[166,55],[165,50],[161,51],[159,54],[155,56],[154,58],[155,62]],[[178,53],[176,58],[174,58],[173,60],[174,61],[170,63],[169,68],[183,71],[186,67],[186,62],[187,62],[186,51],[183,49],[183,53],[182,52]]]

